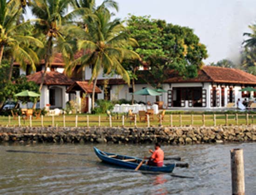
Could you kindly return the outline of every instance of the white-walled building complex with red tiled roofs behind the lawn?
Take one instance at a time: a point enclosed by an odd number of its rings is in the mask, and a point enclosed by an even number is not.
[[[81,55],[81,53],[79,53]],[[44,61],[37,72],[28,75],[28,80],[40,84]],[[56,54],[51,69],[47,70],[47,76],[42,88],[40,107],[51,105],[51,108],[65,108],[66,102],[74,100],[81,107],[82,112],[90,112],[92,86],[88,80],[92,75],[92,67],[74,69],[71,78],[63,74],[64,62],[60,54]],[[143,70],[141,70],[143,71]],[[20,69],[20,74],[27,74],[27,71]],[[235,103],[238,99],[243,101],[256,97],[254,93],[241,92],[244,87],[256,88],[256,76],[239,69],[229,69],[214,66],[204,66],[198,71],[198,76],[193,79],[182,79],[169,71],[169,78],[162,83],[162,88],[167,93],[162,93],[160,101],[167,109],[215,109],[225,108],[229,103]],[[105,81],[108,81],[107,83]],[[79,81],[79,82],[75,82]],[[96,99],[120,100],[132,99],[132,88],[128,86],[119,75],[104,75],[102,72],[98,77]],[[152,88],[145,83],[135,83],[135,91],[142,88]],[[155,96],[148,96],[147,100],[154,103]],[[135,101],[145,102],[145,96],[135,95]]]

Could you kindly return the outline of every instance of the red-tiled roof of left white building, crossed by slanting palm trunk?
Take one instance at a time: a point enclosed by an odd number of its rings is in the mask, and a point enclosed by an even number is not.
[[[43,74],[44,71],[39,71],[32,75],[27,75],[27,80],[40,84]],[[68,78],[66,75],[57,71],[47,71],[44,79],[45,85],[71,85],[73,82],[74,81]]]

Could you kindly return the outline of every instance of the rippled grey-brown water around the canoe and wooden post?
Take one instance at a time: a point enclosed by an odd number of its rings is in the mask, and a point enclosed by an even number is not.
[[[153,149],[152,145],[97,147],[137,157]],[[232,148],[243,148],[246,194],[256,194],[254,143],[162,148],[166,156],[178,155],[190,165],[175,168],[175,175],[194,178],[117,169],[101,163],[93,145],[0,145],[0,194],[231,194]]]

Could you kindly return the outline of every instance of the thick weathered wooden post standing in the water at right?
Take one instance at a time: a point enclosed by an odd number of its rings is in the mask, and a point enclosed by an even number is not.
[[[244,195],[243,149],[232,149],[230,154],[232,195]]]

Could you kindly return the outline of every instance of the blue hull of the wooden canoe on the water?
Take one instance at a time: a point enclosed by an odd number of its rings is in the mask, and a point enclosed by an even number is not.
[[[141,158],[103,152],[97,149],[96,147],[94,147],[94,151],[97,157],[99,157],[102,160],[102,162],[105,162],[108,164],[114,164],[119,167],[123,167],[127,169],[135,169],[142,160]],[[108,157],[108,156],[117,156],[117,158]],[[135,162],[125,162],[123,161],[125,159],[135,159]],[[162,167],[154,167],[154,166],[148,166],[146,164],[143,164],[141,165],[139,170],[171,173],[174,170],[174,168],[175,168],[175,164],[166,164],[166,165],[163,165]]]

